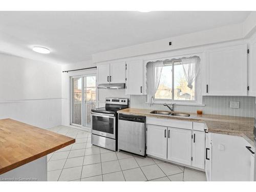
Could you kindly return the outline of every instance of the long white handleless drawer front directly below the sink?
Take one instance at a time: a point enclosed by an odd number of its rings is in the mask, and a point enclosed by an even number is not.
[[[146,117],[147,124],[155,124],[159,126],[168,126],[168,127],[176,127],[186,130],[193,129],[193,122],[190,121],[179,121],[173,119],[160,119],[160,118],[153,118],[153,117]]]

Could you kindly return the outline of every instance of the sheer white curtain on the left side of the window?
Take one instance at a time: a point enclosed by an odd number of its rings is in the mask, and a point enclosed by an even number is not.
[[[150,103],[150,105],[152,104],[152,101],[154,99],[154,96],[159,86],[162,67],[163,67],[162,60],[158,60],[155,62],[148,62],[146,65],[146,93],[147,93],[147,103]]]

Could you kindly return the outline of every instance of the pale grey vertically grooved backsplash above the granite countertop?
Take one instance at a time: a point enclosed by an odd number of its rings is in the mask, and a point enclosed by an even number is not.
[[[229,108],[230,101],[239,101],[239,109]],[[255,97],[246,96],[203,96],[205,106],[175,105],[174,111],[196,113],[202,110],[203,114],[229,115],[240,117],[254,117]],[[146,103],[146,95],[131,95],[131,108],[168,110],[162,104]]]

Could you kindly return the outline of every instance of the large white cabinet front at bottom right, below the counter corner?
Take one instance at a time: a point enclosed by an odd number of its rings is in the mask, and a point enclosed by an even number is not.
[[[212,133],[212,181],[250,181],[251,154],[243,137]]]

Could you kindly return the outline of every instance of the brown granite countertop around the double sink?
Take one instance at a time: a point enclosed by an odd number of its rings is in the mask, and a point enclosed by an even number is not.
[[[178,116],[168,116],[168,115],[157,115],[151,114],[153,110],[148,109],[135,109],[127,108],[124,110],[118,111],[122,114],[130,115],[141,115],[147,117],[155,118],[164,118],[164,119],[176,119],[176,120],[185,120],[193,122],[205,123],[208,127],[208,132],[210,133],[219,133],[226,135],[241,136],[252,146],[254,146],[254,118],[250,117],[235,117],[235,116],[224,116],[224,115],[208,115],[202,114],[198,115],[196,113],[189,113],[189,117],[178,117]],[[178,112],[179,113],[179,112]],[[184,113],[184,112],[180,112]]]

